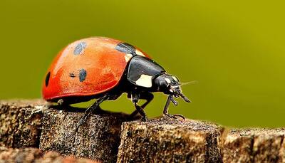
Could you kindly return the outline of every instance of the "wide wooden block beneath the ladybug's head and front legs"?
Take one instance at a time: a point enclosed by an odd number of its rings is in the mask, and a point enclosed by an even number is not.
[[[222,131],[196,120],[124,122],[117,162],[222,162]]]

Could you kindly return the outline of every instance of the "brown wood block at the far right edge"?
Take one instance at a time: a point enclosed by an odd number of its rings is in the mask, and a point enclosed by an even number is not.
[[[224,162],[285,162],[284,129],[232,130],[224,142]]]

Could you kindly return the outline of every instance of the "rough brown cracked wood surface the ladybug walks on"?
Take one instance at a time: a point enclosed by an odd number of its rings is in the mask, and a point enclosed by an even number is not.
[[[228,129],[165,117],[130,122],[128,115],[105,112],[75,132],[83,111],[0,100],[0,163],[43,162],[46,152],[51,162],[78,162],[65,159],[70,155],[99,162],[285,162],[284,128]]]

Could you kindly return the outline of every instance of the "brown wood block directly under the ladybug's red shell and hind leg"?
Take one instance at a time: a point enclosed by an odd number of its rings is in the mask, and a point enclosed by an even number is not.
[[[100,162],[115,162],[120,144],[120,126],[129,116],[123,113],[90,115],[76,132],[83,114],[68,109],[43,110],[40,149],[56,151],[64,156],[72,154]]]

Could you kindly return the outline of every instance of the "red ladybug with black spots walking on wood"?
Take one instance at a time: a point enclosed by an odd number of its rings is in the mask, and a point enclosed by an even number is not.
[[[46,74],[42,94],[48,102],[59,105],[97,99],[81,118],[82,124],[90,112],[100,110],[101,102],[127,93],[136,109],[130,116],[139,112],[142,121],[146,121],[143,109],[155,92],[168,95],[164,115],[182,117],[168,114],[170,102],[177,105],[174,98],[190,102],[182,94],[180,84],[175,75],[168,74],[139,48],[113,38],[93,37],[75,41],[58,53]],[[141,106],[140,99],[146,100]]]

